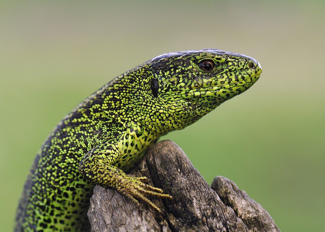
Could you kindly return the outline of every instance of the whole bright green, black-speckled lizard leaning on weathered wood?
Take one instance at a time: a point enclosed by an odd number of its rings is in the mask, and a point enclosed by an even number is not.
[[[249,89],[262,72],[253,58],[215,49],[167,53],[116,77],[51,132],[32,165],[15,231],[89,231],[95,184],[135,204],[172,199],[125,172],[150,144]]]

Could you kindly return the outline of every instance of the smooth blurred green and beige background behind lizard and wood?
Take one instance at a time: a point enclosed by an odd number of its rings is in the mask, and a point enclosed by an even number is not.
[[[0,3],[0,225],[13,228],[34,156],[89,94],[166,52],[253,56],[259,81],[162,139],[208,183],[233,180],[282,231],[324,231],[325,4],[313,1]]]

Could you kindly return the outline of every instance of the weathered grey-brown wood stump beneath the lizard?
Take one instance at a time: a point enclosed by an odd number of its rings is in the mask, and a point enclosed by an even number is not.
[[[150,178],[174,200],[151,198],[162,210],[158,214],[96,186],[88,210],[92,231],[280,231],[266,210],[231,180],[215,177],[211,188],[170,140],[150,146],[131,174]]]

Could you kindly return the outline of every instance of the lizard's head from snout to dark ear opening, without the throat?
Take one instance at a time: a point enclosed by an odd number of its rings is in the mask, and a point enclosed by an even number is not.
[[[213,49],[163,54],[152,59],[151,67],[157,97],[211,104],[246,91],[262,72],[252,57]]]

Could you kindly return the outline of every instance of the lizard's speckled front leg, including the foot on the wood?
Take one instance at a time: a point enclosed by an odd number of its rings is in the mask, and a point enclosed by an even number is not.
[[[163,194],[162,189],[147,184],[147,177],[126,175],[114,166],[119,157],[118,142],[109,140],[91,149],[80,162],[78,170],[86,180],[105,188],[116,189],[137,206],[139,205],[137,199],[140,199],[161,212],[144,194],[169,199],[173,199],[172,196]]]

